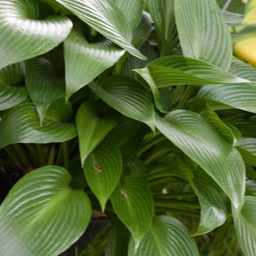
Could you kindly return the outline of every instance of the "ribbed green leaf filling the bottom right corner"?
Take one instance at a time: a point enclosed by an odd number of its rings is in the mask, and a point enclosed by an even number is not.
[[[245,196],[244,205],[238,218],[233,218],[239,245],[245,256],[252,256],[256,251],[256,197]],[[235,214],[232,208],[233,215]]]

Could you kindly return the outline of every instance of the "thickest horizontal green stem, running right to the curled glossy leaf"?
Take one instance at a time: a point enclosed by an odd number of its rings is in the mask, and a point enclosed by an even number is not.
[[[166,198],[154,198],[154,205],[159,207],[190,207],[201,209],[201,206],[198,202],[187,201],[187,200],[178,200],[178,199],[166,199]]]

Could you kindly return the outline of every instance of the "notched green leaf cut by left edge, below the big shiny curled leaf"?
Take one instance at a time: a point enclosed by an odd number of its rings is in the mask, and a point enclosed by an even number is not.
[[[24,72],[24,62],[0,70],[0,111],[12,108],[27,98],[24,86],[15,87],[23,79]]]

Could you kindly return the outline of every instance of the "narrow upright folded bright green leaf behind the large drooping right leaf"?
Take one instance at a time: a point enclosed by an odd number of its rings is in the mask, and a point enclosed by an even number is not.
[[[224,135],[227,140],[232,144],[232,146],[236,146],[239,142],[235,135],[232,133],[230,128],[221,121],[218,115],[210,108],[209,104],[206,103],[205,108],[205,118],[216,127],[217,130],[220,131],[222,135]],[[241,135],[240,135],[241,137]]]

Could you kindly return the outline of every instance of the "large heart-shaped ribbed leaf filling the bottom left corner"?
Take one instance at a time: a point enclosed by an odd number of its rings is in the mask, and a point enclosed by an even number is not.
[[[1,255],[57,256],[82,235],[91,204],[70,181],[67,170],[45,166],[14,185],[0,207]]]

